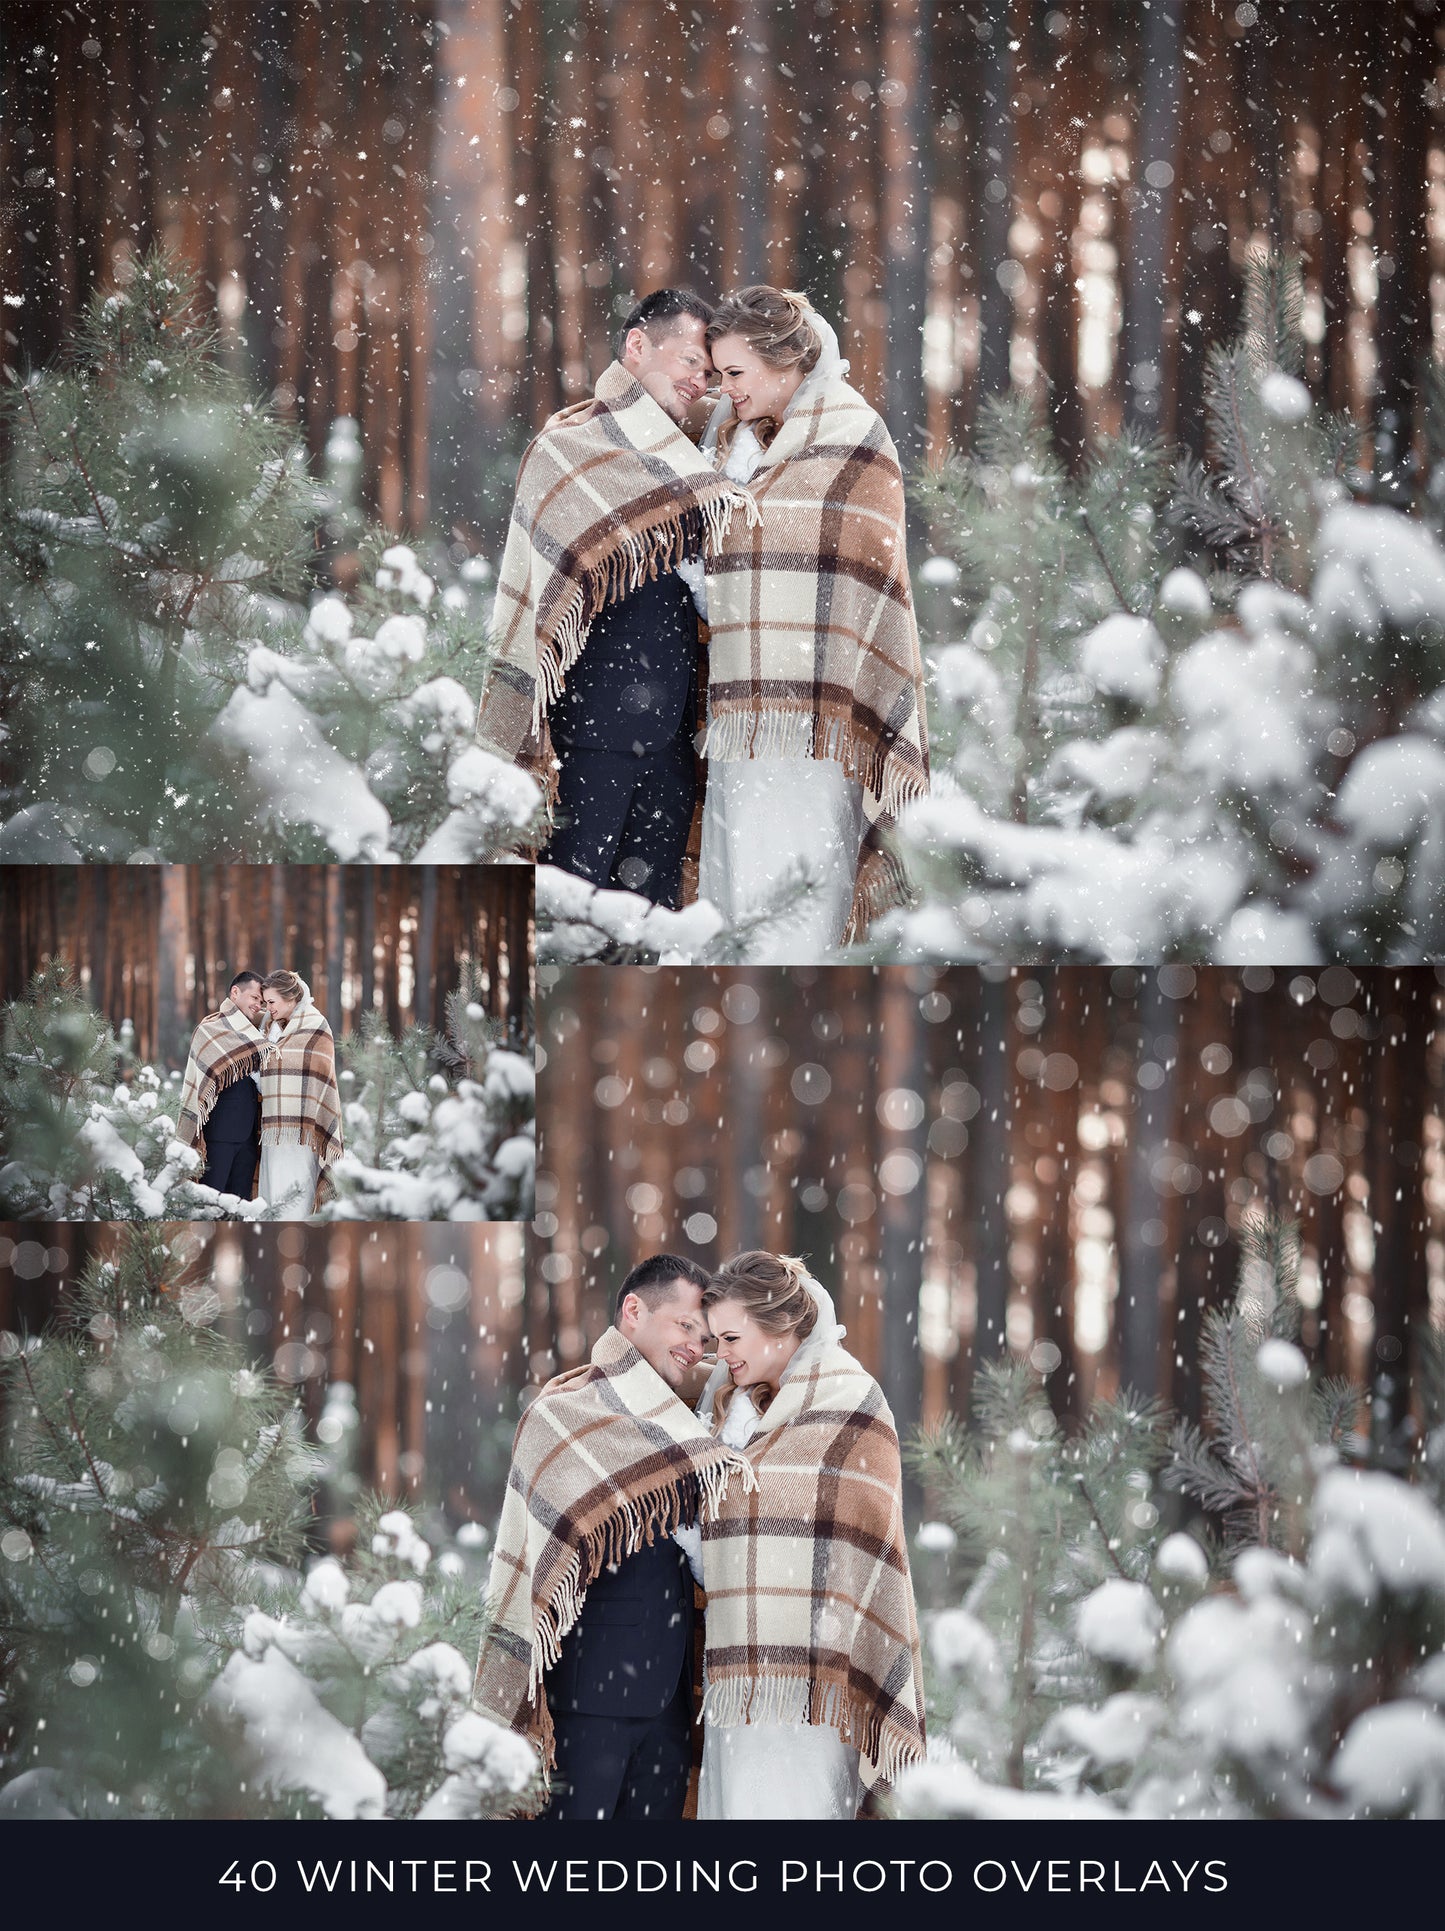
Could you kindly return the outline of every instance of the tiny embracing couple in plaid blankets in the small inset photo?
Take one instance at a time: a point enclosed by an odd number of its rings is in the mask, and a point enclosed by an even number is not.
[[[176,1137],[205,1159],[201,1186],[257,1191],[282,1220],[315,1209],[342,1157],[342,1095],[336,1041],[299,973],[236,973],[191,1035]]]

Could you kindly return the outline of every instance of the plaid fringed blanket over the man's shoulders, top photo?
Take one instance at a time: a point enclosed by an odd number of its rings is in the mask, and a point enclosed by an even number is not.
[[[751,498],[620,363],[558,411],[518,469],[477,742],[556,798],[547,711],[601,610],[686,556],[711,556]]]

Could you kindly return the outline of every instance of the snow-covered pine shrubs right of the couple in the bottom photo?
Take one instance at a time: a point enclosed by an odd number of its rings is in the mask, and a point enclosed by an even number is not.
[[[923,1618],[933,1761],[900,1780],[904,1815],[1445,1815],[1430,1448],[1414,1485],[1345,1464],[1358,1392],[1289,1338],[1292,1267],[1292,1232],[1258,1228],[1207,1344],[1209,1431],[1178,1427],[1165,1469],[1223,1518],[1227,1564],[1159,1535],[1157,1456],[1113,1464],[1134,1473],[1115,1506],[1070,1487],[1047,1410],[1001,1400],[1020,1369],[991,1371],[979,1439],[923,1464],[976,1574]]]

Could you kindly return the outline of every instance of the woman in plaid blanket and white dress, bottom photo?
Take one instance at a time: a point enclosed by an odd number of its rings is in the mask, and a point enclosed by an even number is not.
[[[740,1253],[699,1402],[757,1491],[674,1531],[707,1591],[699,1819],[854,1817],[923,1755],[898,1435],[802,1261]]]

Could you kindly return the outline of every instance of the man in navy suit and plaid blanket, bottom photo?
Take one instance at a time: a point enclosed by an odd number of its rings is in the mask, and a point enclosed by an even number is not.
[[[552,1744],[549,1819],[682,1815],[694,1591],[668,1529],[740,1471],[676,1394],[703,1354],[707,1280],[670,1253],[634,1267],[589,1367],[547,1383],[518,1427],[477,1699],[543,1757]],[[628,1551],[634,1524],[651,1539]]]

